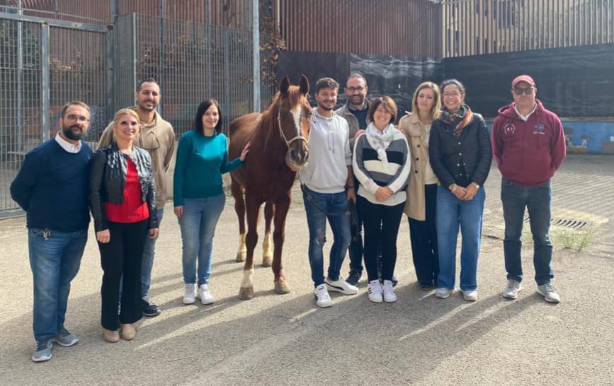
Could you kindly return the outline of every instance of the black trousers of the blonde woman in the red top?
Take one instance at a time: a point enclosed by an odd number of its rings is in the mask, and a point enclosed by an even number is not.
[[[108,222],[110,241],[98,242],[104,271],[101,288],[101,324],[115,330],[120,323],[141,319],[141,262],[149,221],[137,223]],[[118,317],[118,296],[123,276],[121,312]]]

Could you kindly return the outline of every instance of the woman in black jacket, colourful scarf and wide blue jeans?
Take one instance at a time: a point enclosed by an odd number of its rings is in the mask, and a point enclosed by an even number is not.
[[[465,104],[465,86],[456,79],[441,83],[443,109],[433,122],[428,142],[437,187],[436,227],[439,255],[438,298],[455,289],[458,228],[462,234],[460,289],[465,300],[477,300],[477,259],[482,238],[484,182],[492,151],[486,122]]]

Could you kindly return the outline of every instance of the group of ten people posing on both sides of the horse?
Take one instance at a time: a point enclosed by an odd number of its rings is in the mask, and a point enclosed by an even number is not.
[[[493,156],[503,175],[508,271],[503,296],[516,298],[521,290],[521,232],[527,208],[538,293],[559,302],[550,284],[550,178],[565,156],[564,135],[558,117],[535,98],[533,78],[513,80],[514,101],[499,110],[491,136],[482,116],[465,104],[465,86],[455,79],[441,86],[421,83],[411,112],[398,128],[397,104],[388,96],[368,100],[363,76],[352,74],[344,91],[348,102],[334,110],[339,83],[332,78],[317,81],[311,156],[299,173],[318,306],[333,304],[329,291],[358,293],[363,264],[369,300],[397,300],[394,267],[403,214],[409,219],[420,288],[435,288],[438,298],[455,291],[460,227],[460,289],[466,300],[477,300],[483,185]],[[156,111],[160,98],[154,79],[142,81],[135,93],[137,105],[115,113],[96,153],[83,141],[89,107],[67,103],[57,135],[25,156],[11,183],[11,196],[27,214],[35,362],[51,358],[53,343],[72,346],[79,341],[64,318],[90,212],[103,269],[103,339],[134,339],[135,322],[161,313],[148,293],[175,134]],[[228,160],[223,124],[219,103],[205,100],[193,130],[183,134],[177,146],[173,199],[181,228],[185,304],[195,303],[197,296],[203,304],[215,301],[208,285],[215,226],[225,204],[222,174],[240,168],[249,153],[248,143],[237,159]],[[326,221],[334,241],[325,277]],[[348,250],[350,272],[344,280],[340,271]]]

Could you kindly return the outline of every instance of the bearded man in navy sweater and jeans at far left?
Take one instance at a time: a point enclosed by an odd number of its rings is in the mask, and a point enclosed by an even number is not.
[[[32,360],[51,359],[53,342],[79,341],[64,327],[70,282],[79,272],[89,226],[91,148],[81,138],[90,110],[83,102],[62,107],[57,135],[26,154],[11,183],[11,197],[26,213],[34,284]]]

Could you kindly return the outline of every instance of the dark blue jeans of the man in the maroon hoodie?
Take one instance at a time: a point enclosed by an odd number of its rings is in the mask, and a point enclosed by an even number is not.
[[[550,242],[550,181],[535,187],[523,187],[505,178],[501,180],[501,201],[505,219],[503,242],[507,278],[523,279],[521,261],[522,233],[525,207],[529,212],[529,223],[533,233],[533,265],[538,286],[550,283],[552,273],[552,243]]]

